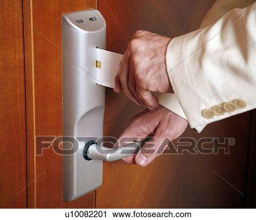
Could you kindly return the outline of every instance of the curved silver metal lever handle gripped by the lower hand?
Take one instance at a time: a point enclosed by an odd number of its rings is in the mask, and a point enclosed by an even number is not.
[[[111,162],[138,153],[140,146],[141,144],[138,142],[110,149],[108,147],[97,145],[97,143],[92,143],[92,145],[89,145],[87,149],[85,149],[84,158],[87,160],[94,159]]]

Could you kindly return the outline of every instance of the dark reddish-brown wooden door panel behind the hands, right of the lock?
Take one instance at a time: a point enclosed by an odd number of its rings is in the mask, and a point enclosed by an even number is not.
[[[124,53],[138,29],[175,37],[200,26],[213,0],[98,0],[107,23],[107,49]],[[105,136],[117,137],[142,107],[123,94],[106,90]],[[230,153],[169,154],[150,166],[104,163],[104,182],[96,208],[241,208],[245,204],[246,155],[250,113],[207,126],[201,134],[187,129],[183,137],[235,138]],[[171,125],[170,125],[171,126]],[[177,145],[177,141],[174,142]],[[233,187],[232,187],[233,186]]]

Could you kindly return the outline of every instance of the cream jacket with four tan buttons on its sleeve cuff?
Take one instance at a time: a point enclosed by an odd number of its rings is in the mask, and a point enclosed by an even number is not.
[[[197,132],[256,108],[255,0],[217,0],[200,29],[171,40],[166,64],[175,94],[160,104]]]

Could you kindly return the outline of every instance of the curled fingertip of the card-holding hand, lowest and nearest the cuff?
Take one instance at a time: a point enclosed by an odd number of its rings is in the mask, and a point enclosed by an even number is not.
[[[159,105],[159,100],[150,91],[145,91],[137,87],[136,94],[144,105],[150,110],[154,110]]]

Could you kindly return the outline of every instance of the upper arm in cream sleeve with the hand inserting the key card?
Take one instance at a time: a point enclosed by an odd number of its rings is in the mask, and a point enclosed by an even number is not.
[[[255,108],[250,95],[256,75],[255,4],[233,9],[216,23],[172,40],[146,31],[135,33],[115,77],[115,91],[124,91],[149,109],[160,103],[198,132],[210,122]],[[211,13],[207,17],[217,19]],[[151,94],[173,91],[175,95],[158,99]]]

